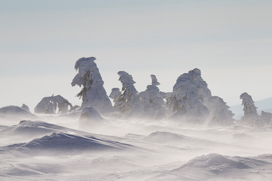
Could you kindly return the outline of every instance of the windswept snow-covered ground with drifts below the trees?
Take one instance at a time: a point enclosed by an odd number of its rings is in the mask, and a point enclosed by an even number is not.
[[[103,124],[82,127],[76,113],[22,115],[1,118],[0,180],[272,179],[271,126],[106,114]]]

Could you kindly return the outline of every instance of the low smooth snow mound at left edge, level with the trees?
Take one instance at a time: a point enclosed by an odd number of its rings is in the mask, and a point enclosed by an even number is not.
[[[27,110],[20,108],[19,106],[5,106],[0,108],[1,116],[18,116],[21,119],[31,119],[37,117],[35,114],[28,112]]]

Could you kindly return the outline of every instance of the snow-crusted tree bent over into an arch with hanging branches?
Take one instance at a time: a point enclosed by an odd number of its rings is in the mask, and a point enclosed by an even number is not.
[[[52,103],[52,105],[49,105]],[[34,114],[44,114],[47,110],[47,113],[55,113],[58,108],[58,113],[67,113],[68,106],[72,108],[72,104],[67,100],[64,99],[62,96],[57,95],[54,96],[54,94],[50,97],[44,97],[42,100],[36,105],[34,108]]]

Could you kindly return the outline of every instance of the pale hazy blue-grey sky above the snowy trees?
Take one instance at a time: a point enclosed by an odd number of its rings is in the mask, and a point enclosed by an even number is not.
[[[272,97],[272,1],[0,1],[0,107],[60,94],[73,105],[74,64],[96,57],[109,95],[118,71],[137,90],[155,74],[172,91],[202,71],[212,95],[240,104]]]

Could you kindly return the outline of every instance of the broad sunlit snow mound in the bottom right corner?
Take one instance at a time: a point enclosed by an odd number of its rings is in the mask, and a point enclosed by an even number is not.
[[[179,166],[173,165],[173,169],[160,172],[149,180],[252,180],[252,173],[259,173],[256,170],[272,165],[258,158],[230,157],[217,153],[201,155]]]

